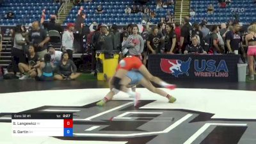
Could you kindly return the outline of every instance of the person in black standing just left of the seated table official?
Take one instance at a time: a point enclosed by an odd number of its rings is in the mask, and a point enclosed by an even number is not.
[[[181,28],[181,33],[180,33],[180,49],[179,52],[183,53],[185,50],[186,45],[188,45],[191,37],[191,30],[192,27],[189,24],[189,17],[184,17],[184,26]]]

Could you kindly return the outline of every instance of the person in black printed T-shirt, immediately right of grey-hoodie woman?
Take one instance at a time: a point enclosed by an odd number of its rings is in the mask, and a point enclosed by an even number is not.
[[[152,33],[148,36],[147,47],[149,54],[159,54],[161,52],[161,38],[163,36],[158,33],[158,28],[152,28]]]

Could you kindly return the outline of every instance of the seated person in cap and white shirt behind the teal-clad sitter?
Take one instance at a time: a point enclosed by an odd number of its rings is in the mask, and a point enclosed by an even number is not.
[[[51,45],[51,44],[48,45],[48,52],[49,52],[49,54],[51,54],[51,65],[52,65],[52,67],[56,68],[57,65],[60,64],[62,52],[61,51],[55,51],[54,46]]]

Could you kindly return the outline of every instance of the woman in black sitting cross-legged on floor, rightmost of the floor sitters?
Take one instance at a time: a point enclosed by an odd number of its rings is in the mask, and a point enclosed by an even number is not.
[[[74,62],[68,59],[68,53],[63,52],[61,56],[60,65],[57,66],[57,74],[54,76],[56,80],[71,80],[76,79],[80,76],[80,73],[77,73],[77,67]]]

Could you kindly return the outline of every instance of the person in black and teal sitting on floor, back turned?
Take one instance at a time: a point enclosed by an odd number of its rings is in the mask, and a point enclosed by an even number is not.
[[[51,55],[45,54],[44,61],[35,65],[38,81],[53,81],[53,68],[51,65]]]

